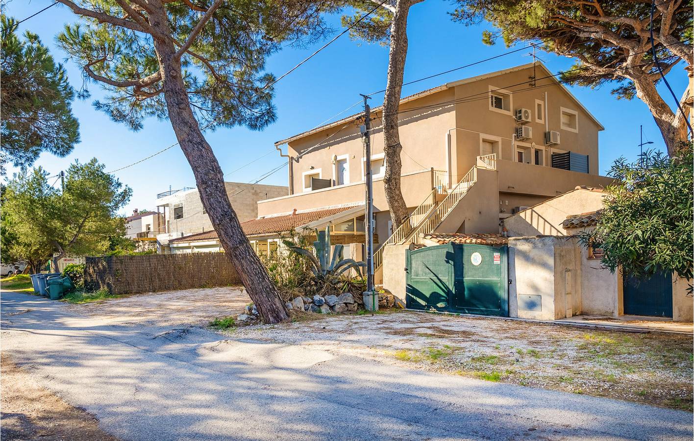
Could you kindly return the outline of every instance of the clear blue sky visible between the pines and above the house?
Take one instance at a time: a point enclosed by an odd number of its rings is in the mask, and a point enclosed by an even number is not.
[[[51,4],[51,0],[10,1],[5,8],[7,15],[23,19],[37,10]],[[405,67],[405,81],[423,78],[441,71],[469,64],[477,60],[504,53],[509,49],[503,44],[485,46],[481,34],[486,25],[462,26],[450,20],[447,12],[451,10],[448,1],[428,0],[412,8],[408,23],[409,52]],[[76,89],[83,84],[81,68],[58,49],[56,35],[66,23],[76,21],[76,16],[65,6],[53,6],[40,15],[25,21],[18,32],[31,30],[48,45],[57,61],[67,68],[69,79]],[[339,29],[339,17],[330,17],[335,29]],[[296,63],[310,55],[324,42],[305,49],[287,48],[273,55],[267,63],[268,71],[276,76],[294,67]],[[403,89],[403,95],[441,85],[451,80],[467,78],[486,72],[505,69],[532,61],[526,51],[505,55],[491,62],[477,64],[451,74],[438,76],[416,83]],[[568,58],[548,53],[539,53],[550,71],[568,69],[572,64]],[[313,128],[330,116],[344,110],[359,100],[360,93],[371,93],[384,89],[388,63],[388,49],[375,44],[361,44],[340,37],[328,49],[321,51],[302,67],[282,79],[275,86],[275,105],[277,121],[271,126],[256,132],[246,128],[220,129],[208,132],[207,139],[214,149],[219,164],[225,173],[236,170],[244,164],[273,150],[273,143],[304,130]],[[676,94],[686,88],[687,77],[682,66],[678,65],[668,80]],[[102,112],[94,110],[92,101],[101,96],[98,85],[89,85],[92,98],[75,101],[74,114],[80,121],[81,143],[71,155],[58,158],[48,153],[41,155],[37,165],[43,166],[51,174],[64,170],[75,159],[81,162],[96,157],[111,171],[126,166],[176,142],[169,121],[146,120],[144,129],[139,132],[128,130],[126,126],[114,123]],[[573,87],[571,91],[597,118],[605,130],[600,132],[600,173],[604,174],[614,159],[625,156],[635,159],[638,155],[639,125],[643,124],[644,140],[654,141],[654,146],[662,148],[660,132],[655,125],[648,107],[638,99],[617,100],[610,94],[611,87],[589,89]],[[670,105],[675,100],[661,86],[661,94]],[[379,105],[382,94],[374,96],[373,106]],[[357,112],[353,107],[340,116]],[[234,182],[251,182],[260,175],[282,164],[284,160],[271,153],[250,166],[226,176]],[[12,174],[12,169],[9,170]],[[133,188],[133,198],[125,211],[133,208],[155,208],[156,193],[166,191],[169,185],[178,189],[194,187],[195,180],[180,148],[175,147],[141,164],[116,173],[117,177]],[[287,169],[271,175],[262,181],[265,184],[287,185]]]

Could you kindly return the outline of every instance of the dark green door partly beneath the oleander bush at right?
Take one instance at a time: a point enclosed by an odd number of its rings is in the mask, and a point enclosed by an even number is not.
[[[672,274],[657,273],[650,279],[626,277],[624,313],[672,317]]]

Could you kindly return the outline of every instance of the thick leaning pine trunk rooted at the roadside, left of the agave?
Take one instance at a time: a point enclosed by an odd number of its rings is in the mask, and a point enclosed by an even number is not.
[[[149,21],[164,35],[171,35],[166,12],[160,2],[153,6]],[[203,207],[214,230],[219,235],[228,259],[235,266],[248,295],[257,307],[264,323],[277,323],[287,319],[287,308],[265,268],[248,243],[239,218],[231,207],[224,186],[223,173],[210,144],[205,140],[188,102],[188,94],[181,76],[180,59],[170,40],[154,39],[154,46],[163,72],[164,100],[167,103],[171,126],[176,139],[195,175]]]

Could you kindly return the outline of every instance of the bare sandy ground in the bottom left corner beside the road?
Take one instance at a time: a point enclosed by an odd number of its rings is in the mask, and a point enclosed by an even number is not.
[[[38,385],[25,370],[2,354],[3,440],[117,441],[99,429],[99,422]]]

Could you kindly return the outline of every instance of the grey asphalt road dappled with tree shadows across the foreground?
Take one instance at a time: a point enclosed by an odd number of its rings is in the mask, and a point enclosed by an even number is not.
[[[124,440],[691,440],[692,414],[394,368],[2,292],[17,365]],[[270,330],[271,331],[271,330]]]

